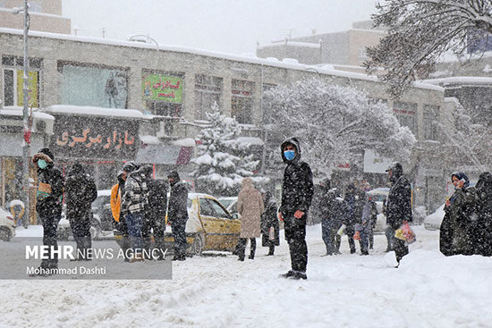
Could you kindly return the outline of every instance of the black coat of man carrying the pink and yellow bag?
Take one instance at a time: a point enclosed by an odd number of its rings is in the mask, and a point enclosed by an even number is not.
[[[411,185],[402,175],[389,189],[386,202],[386,224],[397,230],[405,220],[413,221],[413,215],[411,214]]]

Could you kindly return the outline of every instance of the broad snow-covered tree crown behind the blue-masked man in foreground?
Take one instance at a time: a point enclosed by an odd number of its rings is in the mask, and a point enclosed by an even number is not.
[[[276,132],[301,138],[302,156],[315,173],[329,172],[335,163],[360,164],[365,149],[404,160],[415,143],[392,109],[356,88],[311,79],[279,86],[266,96]]]

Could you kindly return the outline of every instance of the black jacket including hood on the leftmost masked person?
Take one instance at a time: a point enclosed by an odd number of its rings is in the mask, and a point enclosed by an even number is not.
[[[41,169],[38,160],[47,162]],[[32,156],[32,163],[38,168],[38,192],[36,194],[36,211],[39,215],[61,215],[64,197],[64,176],[53,163],[55,156],[48,148],[42,148]]]

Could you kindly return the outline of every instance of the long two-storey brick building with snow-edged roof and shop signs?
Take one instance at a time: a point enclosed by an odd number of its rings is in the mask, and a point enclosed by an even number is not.
[[[128,160],[154,164],[156,177],[177,168],[183,178],[190,179],[195,137],[207,125],[204,113],[215,102],[223,114],[242,124],[243,137],[257,140],[256,156],[262,160],[264,143],[279,142],[275,136],[266,137],[269,122],[263,92],[302,78],[319,77],[365,90],[370,98],[393,107],[420,143],[438,138],[432,122],[445,115],[443,89],[427,84],[393,101],[374,78],[301,63],[44,32],[30,32],[29,43],[30,105],[55,118],[45,146],[55,149],[63,167],[74,161],[86,164],[97,177],[99,189],[111,187],[116,172]],[[4,113],[23,105],[19,87],[22,31],[0,29],[0,49]],[[88,131],[89,126],[94,130]],[[120,147],[128,151],[112,148],[120,141]],[[71,144],[80,149],[74,151]],[[410,171],[421,158],[425,157],[414,156]],[[268,167],[267,162],[260,167],[274,183],[282,174],[278,166]]]

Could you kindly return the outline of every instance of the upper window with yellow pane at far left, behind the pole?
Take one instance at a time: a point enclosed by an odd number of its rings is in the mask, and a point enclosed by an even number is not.
[[[39,83],[41,64],[42,60],[39,58],[29,59],[28,97],[29,105],[32,105],[33,107],[39,107]],[[4,66],[4,105],[23,106],[23,58],[4,55],[2,56],[2,65]]]

